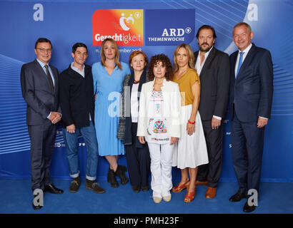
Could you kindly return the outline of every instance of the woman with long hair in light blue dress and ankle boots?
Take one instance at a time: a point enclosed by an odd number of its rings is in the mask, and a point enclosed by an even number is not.
[[[116,138],[119,125],[119,100],[124,77],[130,74],[128,64],[119,61],[119,49],[112,38],[101,43],[101,62],[91,68],[96,93],[94,122],[99,155],[109,162],[107,180],[111,187],[118,187],[116,176],[121,185],[128,182],[126,167],[118,165],[119,155],[124,155],[124,145]]]

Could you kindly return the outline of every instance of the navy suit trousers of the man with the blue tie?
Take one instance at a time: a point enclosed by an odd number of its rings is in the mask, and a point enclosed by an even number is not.
[[[239,183],[239,190],[259,190],[264,148],[264,128],[257,128],[257,121],[241,122],[234,110],[231,121],[232,162]]]

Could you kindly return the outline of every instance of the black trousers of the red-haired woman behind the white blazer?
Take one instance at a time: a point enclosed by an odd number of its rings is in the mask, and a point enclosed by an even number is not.
[[[149,185],[151,158],[147,143],[144,147],[136,147],[137,123],[131,123],[132,144],[125,145],[126,161],[131,185]]]

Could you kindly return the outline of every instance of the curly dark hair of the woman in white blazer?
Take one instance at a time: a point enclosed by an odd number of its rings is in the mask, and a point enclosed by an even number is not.
[[[168,56],[164,54],[159,54],[156,56],[152,56],[151,61],[149,63],[149,71],[147,73],[147,77],[149,78],[149,81],[154,80],[154,66],[162,62],[162,65],[166,67],[166,73],[165,73],[165,78],[167,81],[172,80],[173,78],[173,67],[172,63],[170,62]]]

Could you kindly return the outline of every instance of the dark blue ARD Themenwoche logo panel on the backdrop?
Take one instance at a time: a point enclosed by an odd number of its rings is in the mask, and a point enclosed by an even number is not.
[[[194,39],[195,9],[146,9],[145,45],[177,46]]]

